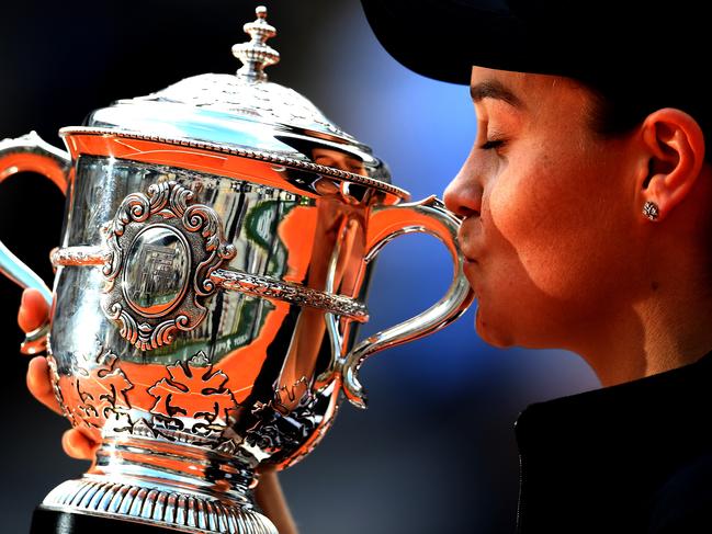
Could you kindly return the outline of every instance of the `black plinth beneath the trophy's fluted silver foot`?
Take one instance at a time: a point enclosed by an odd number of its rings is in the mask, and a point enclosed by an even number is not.
[[[162,529],[151,524],[99,515],[63,512],[43,505],[37,507],[32,514],[32,526],[30,527],[30,534],[97,534],[99,532],[102,534],[125,534],[126,532],[132,534],[176,534],[174,529]]]

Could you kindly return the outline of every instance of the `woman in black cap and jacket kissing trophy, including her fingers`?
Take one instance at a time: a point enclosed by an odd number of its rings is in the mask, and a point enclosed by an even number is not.
[[[464,219],[478,334],[577,352],[604,386],[520,418],[520,531],[703,531],[712,167],[696,18],[634,2],[363,3],[407,67],[470,77],[477,138],[445,202]],[[45,315],[25,294],[22,328]],[[56,409],[44,360],[29,386]],[[64,443],[91,454],[79,431]],[[262,499],[279,497],[265,480]]]

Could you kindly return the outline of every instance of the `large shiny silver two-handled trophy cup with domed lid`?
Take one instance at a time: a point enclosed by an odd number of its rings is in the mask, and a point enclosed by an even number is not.
[[[373,353],[433,332],[472,302],[434,196],[408,202],[371,149],[269,82],[267,10],[237,75],[202,75],[94,111],[60,135],[0,141],[0,179],[32,170],[67,194],[54,291],[0,243],[0,268],[53,305],[46,345],[65,416],[101,445],[38,510],[180,532],[276,533],[258,468],[307,455],[343,396],[365,406]],[[373,260],[409,232],[454,271],[417,317],[355,344]],[[342,395],[343,394],[343,395]],[[63,531],[64,532],[64,531]]]

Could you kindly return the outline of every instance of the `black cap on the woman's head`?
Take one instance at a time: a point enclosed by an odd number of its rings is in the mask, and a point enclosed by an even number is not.
[[[468,83],[473,65],[566,76],[641,110],[679,107],[703,124],[712,31],[692,0],[362,0],[405,67]]]

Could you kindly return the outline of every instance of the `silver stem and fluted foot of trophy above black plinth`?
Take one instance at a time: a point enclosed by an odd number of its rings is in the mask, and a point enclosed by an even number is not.
[[[252,469],[235,456],[158,440],[109,439],[82,478],[47,495],[32,533],[133,532],[142,523],[147,534],[278,534],[255,504],[252,482]]]

